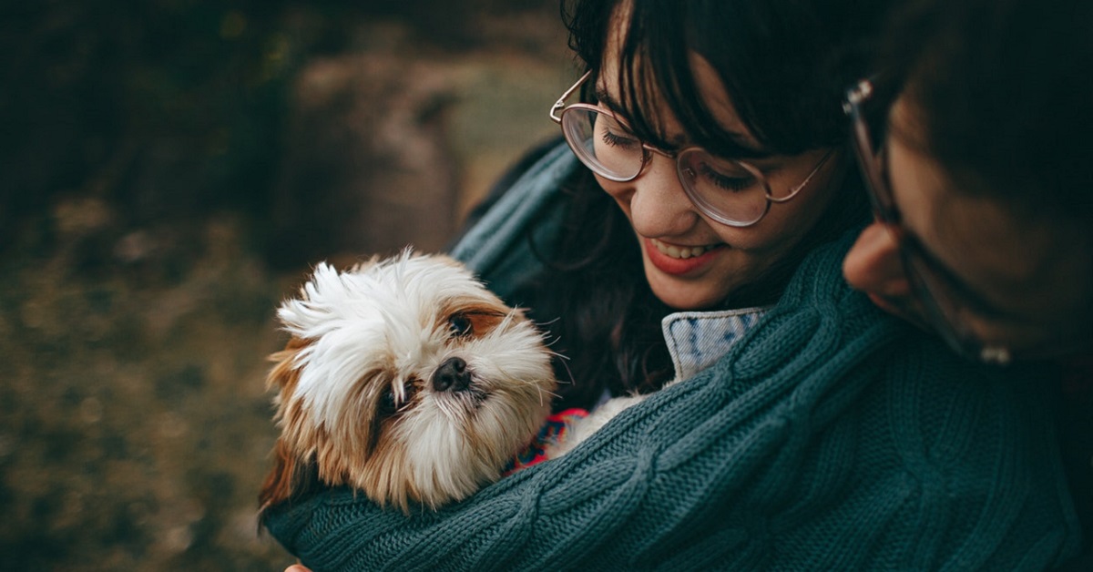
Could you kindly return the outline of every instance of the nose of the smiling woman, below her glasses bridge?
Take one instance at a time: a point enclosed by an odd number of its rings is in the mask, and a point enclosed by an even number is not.
[[[698,219],[675,174],[674,159],[654,154],[642,175],[630,184],[631,220],[638,234],[654,238],[680,235]]]

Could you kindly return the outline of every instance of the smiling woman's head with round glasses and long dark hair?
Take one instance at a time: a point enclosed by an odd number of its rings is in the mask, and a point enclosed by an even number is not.
[[[589,71],[551,116],[595,182],[566,185],[574,205],[550,250],[557,271],[520,294],[569,357],[580,383],[562,393],[581,407],[673,376],[660,327],[670,311],[773,303],[812,246],[867,211],[859,182],[844,176],[846,131],[831,104],[860,69],[854,45],[874,14],[639,2],[628,19],[630,2],[619,5],[614,21],[613,2],[581,4],[569,20]],[[564,315],[587,319],[551,322]]]

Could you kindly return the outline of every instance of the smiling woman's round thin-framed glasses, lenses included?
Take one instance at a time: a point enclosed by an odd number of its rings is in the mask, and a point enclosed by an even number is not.
[[[616,183],[634,180],[653,159],[653,153],[675,160],[675,172],[691,202],[710,219],[729,226],[757,223],[772,202],[792,200],[808,186],[834,150],[828,150],[799,185],[775,194],[763,172],[753,165],[712,155],[700,147],[669,152],[646,144],[625,121],[596,105],[566,105],[586,72],[551,107],[550,117],[561,125],[566,143],[577,159],[597,175]]]

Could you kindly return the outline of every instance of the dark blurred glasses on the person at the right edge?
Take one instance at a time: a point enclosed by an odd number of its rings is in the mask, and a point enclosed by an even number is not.
[[[898,244],[900,258],[912,294],[921,305],[922,317],[959,353],[983,362],[1008,363],[1012,358],[1010,349],[986,343],[972,331],[966,318],[967,307],[960,302],[966,296],[961,295],[955,280],[948,278],[951,272],[935,260],[901,222],[884,160],[886,109],[868,108],[873,93],[871,81],[859,81],[846,92],[843,110],[850,118],[851,140],[873,211]]]

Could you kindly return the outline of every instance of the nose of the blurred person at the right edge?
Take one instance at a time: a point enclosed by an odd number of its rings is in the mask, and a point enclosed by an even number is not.
[[[843,260],[843,276],[871,296],[896,301],[910,295],[900,243],[880,222],[867,226],[850,247]]]

